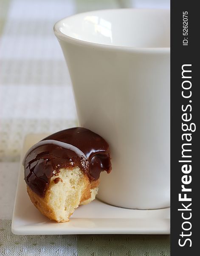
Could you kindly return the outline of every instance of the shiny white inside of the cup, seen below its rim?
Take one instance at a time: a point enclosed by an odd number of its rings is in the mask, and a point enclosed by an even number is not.
[[[170,47],[170,12],[110,9],[67,17],[55,30],[71,38],[123,47]]]

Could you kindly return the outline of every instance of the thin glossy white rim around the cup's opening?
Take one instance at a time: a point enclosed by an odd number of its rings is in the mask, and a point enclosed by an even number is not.
[[[82,46],[90,46],[90,47],[97,47],[102,49],[109,49],[109,50],[121,50],[121,51],[132,51],[132,52],[149,52],[149,53],[169,53],[170,47],[131,47],[131,46],[117,46],[117,45],[109,45],[109,44],[99,44],[99,43],[93,43],[89,41],[80,40],[77,38],[73,38],[69,35],[65,35],[60,31],[60,28],[62,27],[62,23],[68,20],[70,17],[79,16],[79,15],[87,15],[91,14],[93,12],[105,12],[105,11],[113,11],[113,10],[140,10],[140,11],[164,11],[164,12],[170,12],[170,9],[140,9],[140,8],[118,8],[118,9],[101,9],[101,10],[94,10],[90,12],[81,12],[77,13],[75,15],[70,15],[68,17],[65,17],[59,21],[57,21],[54,25],[54,34],[58,38],[58,40],[63,40],[70,42],[72,44],[76,45],[82,45]]]

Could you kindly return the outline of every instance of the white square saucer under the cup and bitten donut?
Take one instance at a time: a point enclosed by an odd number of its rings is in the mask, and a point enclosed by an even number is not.
[[[26,137],[25,152],[47,134]],[[56,223],[43,216],[26,192],[23,166],[20,166],[11,230],[17,235],[56,234],[169,234],[170,208],[134,210],[114,207],[98,199],[78,207],[69,222]]]

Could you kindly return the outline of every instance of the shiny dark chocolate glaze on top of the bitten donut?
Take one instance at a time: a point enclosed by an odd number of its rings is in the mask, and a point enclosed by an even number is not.
[[[88,129],[66,129],[42,141],[45,140],[68,143],[78,148],[80,154],[69,148],[48,144],[48,141],[47,144],[35,145],[35,148],[25,156],[24,175],[26,184],[40,197],[45,196],[51,177],[59,175],[61,168],[79,166],[90,181],[98,180],[102,171],[109,173],[112,169],[108,143]]]

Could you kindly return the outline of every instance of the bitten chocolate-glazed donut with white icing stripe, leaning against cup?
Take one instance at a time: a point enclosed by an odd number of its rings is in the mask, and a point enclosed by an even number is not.
[[[108,143],[81,127],[59,131],[36,143],[23,164],[31,201],[58,222],[68,221],[79,204],[91,202],[100,173],[112,169]]]

